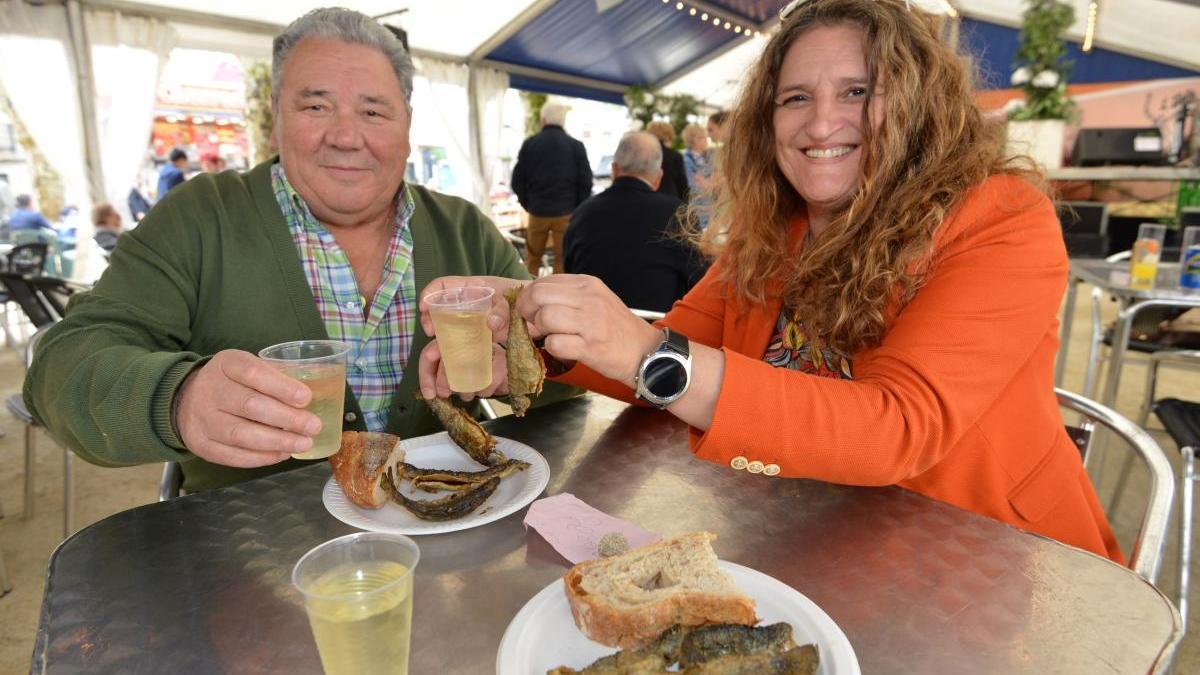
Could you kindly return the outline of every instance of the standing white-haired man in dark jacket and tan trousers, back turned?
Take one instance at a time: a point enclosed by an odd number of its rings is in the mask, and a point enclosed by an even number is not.
[[[563,271],[563,234],[571,211],[592,195],[592,167],[583,144],[563,130],[566,108],[541,108],[541,131],[526,138],[512,167],[512,192],[526,211],[526,267],[538,276],[546,239],[553,234],[554,271]]]

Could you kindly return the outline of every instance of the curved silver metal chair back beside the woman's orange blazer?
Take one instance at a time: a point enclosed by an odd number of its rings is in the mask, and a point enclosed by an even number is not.
[[[1129,555],[1129,568],[1151,584],[1157,583],[1163,549],[1166,545],[1171,501],[1175,498],[1175,472],[1171,470],[1171,462],[1150,434],[1112,408],[1064,389],[1056,388],[1055,394],[1061,407],[1085,418],[1085,423],[1072,432],[1075,442],[1080,443],[1085,458],[1091,443],[1091,431],[1099,424],[1124,440],[1150,470],[1150,498]],[[1068,426],[1068,430],[1072,428]]]

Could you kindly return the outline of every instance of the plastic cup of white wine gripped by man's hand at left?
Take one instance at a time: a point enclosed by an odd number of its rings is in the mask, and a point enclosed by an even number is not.
[[[296,459],[324,459],[342,447],[342,412],[346,407],[346,354],[350,346],[337,340],[296,340],[271,345],[258,357],[312,390],[305,410],[320,418],[320,434]]]

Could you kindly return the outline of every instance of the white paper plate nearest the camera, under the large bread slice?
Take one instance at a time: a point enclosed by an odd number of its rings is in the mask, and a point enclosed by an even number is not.
[[[732,562],[720,561],[721,569],[733,577],[738,589],[756,601],[760,626],[786,621],[798,645],[816,644],[821,655],[818,675],[862,675],[858,658],[841,628],[812,601],[787,584]],[[593,661],[617,651],[593,643],[571,619],[571,607],[563,591],[563,580],[529,599],[512,617],[500,651],[496,656],[497,675],[545,675],[559,665],[582,669]]]

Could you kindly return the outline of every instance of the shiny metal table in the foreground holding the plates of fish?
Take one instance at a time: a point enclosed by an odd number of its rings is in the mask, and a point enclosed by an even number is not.
[[[898,488],[768,478],[695,460],[666,413],[586,396],[490,423],[538,448],[548,494],[790,584],[841,626],[863,671],[1147,673],[1180,640],[1170,602],[1128,569]],[[326,465],[139,507],[53,555],[35,673],[319,673],[289,574],[350,527],[320,503]],[[521,524],[419,537],[410,671],[493,673],[500,637],[566,562]]]

